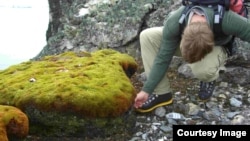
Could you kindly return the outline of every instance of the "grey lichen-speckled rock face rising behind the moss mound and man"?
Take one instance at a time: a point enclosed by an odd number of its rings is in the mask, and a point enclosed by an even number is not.
[[[33,59],[66,51],[112,48],[140,59],[139,34],[162,26],[181,0],[48,0],[50,22],[47,45]],[[250,44],[237,40],[235,54],[221,79],[249,84]],[[181,68],[180,68],[181,69]],[[184,71],[184,70],[181,70]],[[239,78],[241,76],[247,76]],[[239,79],[239,80],[238,80]]]

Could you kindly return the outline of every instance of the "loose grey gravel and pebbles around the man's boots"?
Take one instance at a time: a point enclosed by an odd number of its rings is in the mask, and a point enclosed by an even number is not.
[[[174,89],[172,105],[137,114],[130,141],[172,141],[173,125],[249,125],[250,87],[217,82],[210,101],[198,100],[199,81],[169,73]]]

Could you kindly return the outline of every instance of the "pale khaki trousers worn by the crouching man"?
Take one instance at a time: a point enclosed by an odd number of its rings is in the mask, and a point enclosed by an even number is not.
[[[140,34],[142,61],[146,75],[148,76],[152,68],[154,58],[161,45],[163,27],[153,27],[145,29]],[[178,48],[175,55],[180,56],[180,49]],[[188,64],[194,76],[205,82],[216,80],[219,77],[219,71],[225,70],[225,62],[227,53],[222,47],[214,47],[213,51],[206,55],[204,59],[199,62]],[[154,94],[164,94],[171,92],[167,72],[154,90]]]

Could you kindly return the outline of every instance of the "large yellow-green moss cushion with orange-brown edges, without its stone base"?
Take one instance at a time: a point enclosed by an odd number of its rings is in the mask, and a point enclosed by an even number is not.
[[[0,104],[84,117],[119,116],[133,103],[130,77],[136,69],[134,58],[111,49],[47,56],[0,71]]]

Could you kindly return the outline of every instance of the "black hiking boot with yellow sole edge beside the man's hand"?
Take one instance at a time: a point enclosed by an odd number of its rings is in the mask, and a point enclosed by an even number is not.
[[[136,110],[141,113],[146,113],[154,110],[157,107],[169,105],[172,102],[172,93],[166,93],[163,95],[151,94],[148,100],[143,103],[142,107]]]

